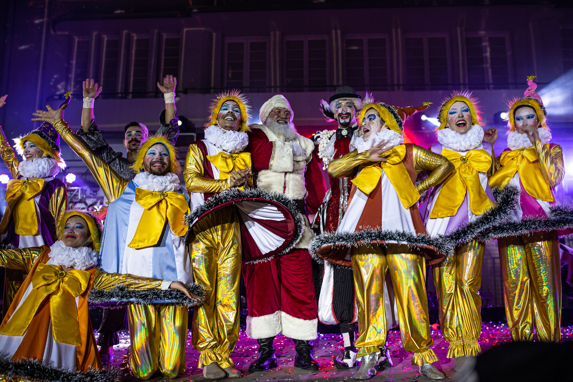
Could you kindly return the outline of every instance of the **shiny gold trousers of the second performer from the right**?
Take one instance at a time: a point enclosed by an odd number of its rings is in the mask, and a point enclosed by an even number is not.
[[[477,356],[481,333],[481,266],[485,244],[472,241],[432,267],[439,301],[439,324],[448,346],[448,358]]]

